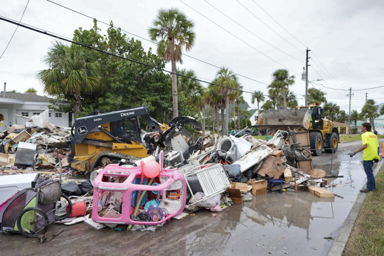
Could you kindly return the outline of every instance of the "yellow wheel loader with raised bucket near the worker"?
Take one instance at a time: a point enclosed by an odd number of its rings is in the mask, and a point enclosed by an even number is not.
[[[297,106],[296,108],[279,108],[260,113],[256,125],[260,128],[286,130],[309,130],[310,148],[313,155],[320,155],[322,149],[331,153],[337,151],[339,134],[333,121],[322,118],[323,108],[318,105]]]

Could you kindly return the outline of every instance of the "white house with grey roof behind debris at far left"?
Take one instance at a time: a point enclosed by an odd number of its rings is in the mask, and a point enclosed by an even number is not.
[[[0,94],[0,130],[5,130],[13,124],[24,124],[26,118],[16,116],[32,116],[40,114],[48,108],[49,100],[53,98],[33,93],[4,92]],[[53,99],[54,102],[68,104],[64,100]],[[69,113],[57,112],[49,109],[49,122],[61,126],[71,126],[73,116]]]

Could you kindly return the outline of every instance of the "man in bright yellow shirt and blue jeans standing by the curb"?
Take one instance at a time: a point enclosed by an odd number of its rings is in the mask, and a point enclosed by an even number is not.
[[[360,190],[360,192],[363,193],[373,191],[376,187],[372,166],[373,162],[378,162],[378,159],[380,159],[378,156],[380,147],[378,145],[377,136],[370,131],[371,128],[372,127],[368,122],[363,122],[361,124],[361,131],[363,132],[361,135],[362,146],[356,151],[348,153],[349,156],[352,157],[357,152],[364,150],[362,152],[362,165],[364,166],[366,174],[366,188]]]

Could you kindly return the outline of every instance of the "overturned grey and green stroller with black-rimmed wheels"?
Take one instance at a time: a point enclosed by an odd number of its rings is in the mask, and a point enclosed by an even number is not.
[[[61,193],[60,181],[43,181],[35,187],[18,191],[3,202],[0,205],[0,231],[20,232],[27,237],[36,237],[45,233],[48,225],[55,220],[68,217],[72,203]],[[61,200],[62,197],[64,199]],[[59,214],[57,209],[62,208],[62,205],[68,205],[68,209]]]

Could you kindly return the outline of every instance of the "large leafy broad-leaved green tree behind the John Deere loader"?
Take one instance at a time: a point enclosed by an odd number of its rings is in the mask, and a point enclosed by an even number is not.
[[[157,68],[164,68],[165,61],[151,52],[144,51],[139,40],[129,38],[114,28],[111,22],[106,33],[101,35],[97,21],[86,30],[79,27],[74,30],[73,40],[86,45],[129,57]],[[171,117],[171,78],[164,72],[96,52],[103,87],[100,90],[86,93],[82,98],[82,115],[100,109],[109,112],[136,106],[147,106],[150,115],[159,121],[168,121]]]

